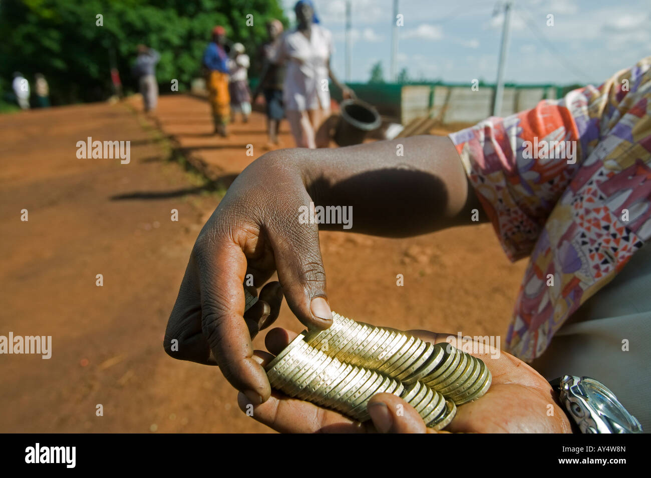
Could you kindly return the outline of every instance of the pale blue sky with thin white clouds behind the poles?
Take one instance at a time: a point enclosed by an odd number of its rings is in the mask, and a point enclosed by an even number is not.
[[[294,25],[294,0],[282,0]],[[345,75],[346,0],[313,0],[333,34],[331,59]],[[368,81],[380,61],[391,70],[393,0],[352,2],[351,72]],[[399,0],[398,71],[409,79],[494,83],[504,23],[504,0]],[[553,25],[549,15],[553,15]],[[598,85],[651,55],[650,0],[516,0],[510,15],[505,81]]]

